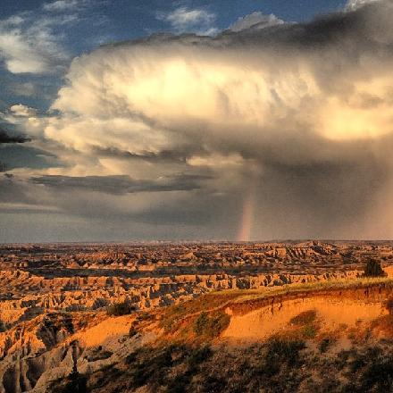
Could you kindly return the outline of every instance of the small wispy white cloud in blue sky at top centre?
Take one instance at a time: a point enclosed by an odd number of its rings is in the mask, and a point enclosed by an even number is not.
[[[188,9],[180,7],[172,13],[160,13],[158,18],[171,23],[172,28],[178,32],[195,32],[202,35],[212,35],[218,30],[214,28],[216,16],[204,9]]]

